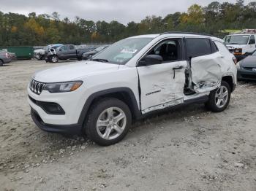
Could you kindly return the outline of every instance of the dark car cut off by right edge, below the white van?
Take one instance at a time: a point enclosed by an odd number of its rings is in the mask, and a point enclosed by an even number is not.
[[[256,50],[238,62],[238,79],[256,80]]]

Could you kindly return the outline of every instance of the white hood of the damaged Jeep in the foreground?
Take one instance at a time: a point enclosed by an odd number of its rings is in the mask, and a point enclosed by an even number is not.
[[[69,82],[78,80],[82,77],[87,77],[100,73],[107,73],[118,70],[117,64],[102,63],[95,61],[80,61],[66,66],[59,66],[44,71],[38,71],[34,74],[34,79],[38,82]]]

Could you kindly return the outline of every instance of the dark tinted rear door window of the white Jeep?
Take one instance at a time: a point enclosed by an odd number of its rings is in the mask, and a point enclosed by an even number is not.
[[[209,39],[185,39],[187,58],[194,58],[202,55],[210,55],[211,51],[211,42]]]

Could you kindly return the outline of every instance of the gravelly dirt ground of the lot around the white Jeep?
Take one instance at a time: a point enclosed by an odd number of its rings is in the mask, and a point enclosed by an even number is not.
[[[0,68],[0,190],[256,190],[256,83],[240,82],[225,112],[187,106],[98,147],[32,122],[26,85],[51,66]]]

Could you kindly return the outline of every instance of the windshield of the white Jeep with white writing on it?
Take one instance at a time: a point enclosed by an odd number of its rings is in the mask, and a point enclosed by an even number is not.
[[[133,58],[153,38],[123,39],[110,45],[107,49],[94,56],[92,61],[105,61],[109,63],[125,64]]]

